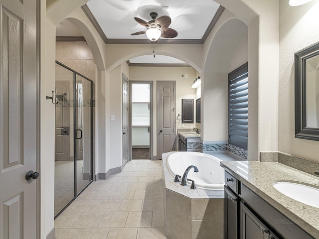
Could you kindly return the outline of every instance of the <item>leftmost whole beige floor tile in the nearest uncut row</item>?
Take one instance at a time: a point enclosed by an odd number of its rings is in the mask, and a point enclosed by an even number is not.
[[[104,213],[101,212],[84,212],[72,223],[71,228],[96,228]]]

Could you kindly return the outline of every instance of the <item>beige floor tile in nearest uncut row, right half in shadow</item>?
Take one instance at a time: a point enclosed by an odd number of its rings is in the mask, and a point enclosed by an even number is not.
[[[152,227],[152,212],[129,212],[126,228]]]

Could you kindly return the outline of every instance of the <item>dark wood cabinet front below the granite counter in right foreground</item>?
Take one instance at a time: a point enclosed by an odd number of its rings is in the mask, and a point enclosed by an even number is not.
[[[224,195],[225,239],[313,239],[227,171]]]

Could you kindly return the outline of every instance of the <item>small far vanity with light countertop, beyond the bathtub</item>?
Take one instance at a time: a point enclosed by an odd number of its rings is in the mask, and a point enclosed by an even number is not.
[[[193,130],[178,130],[178,151],[200,152],[200,134]]]

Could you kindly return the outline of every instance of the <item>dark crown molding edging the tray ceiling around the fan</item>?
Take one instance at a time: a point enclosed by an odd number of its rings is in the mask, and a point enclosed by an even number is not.
[[[150,44],[149,39],[109,39],[107,36],[104,34],[101,26],[99,25],[98,21],[94,17],[93,13],[91,12],[90,8],[87,6],[87,4],[84,4],[81,6],[82,10],[86,14],[86,16],[89,18],[91,23],[93,24],[94,28],[97,30],[101,38],[103,39],[105,44]],[[220,16],[224,12],[225,7],[220,5],[209,23],[203,37],[201,39],[163,39],[160,38],[160,41],[156,44],[204,44],[206,41],[209,33],[212,31],[216,23],[218,22]]]

